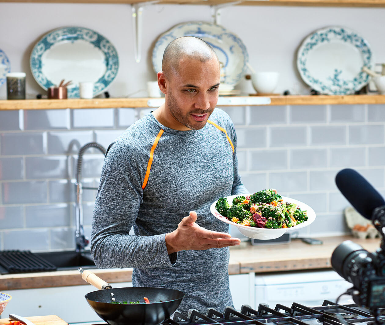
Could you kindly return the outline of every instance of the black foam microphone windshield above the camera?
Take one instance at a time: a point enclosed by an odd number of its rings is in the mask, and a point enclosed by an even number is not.
[[[372,220],[375,208],[385,205],[381,194],[354,169],[339,171],[336,175],[336,185],[358,213],[369,220]]]

